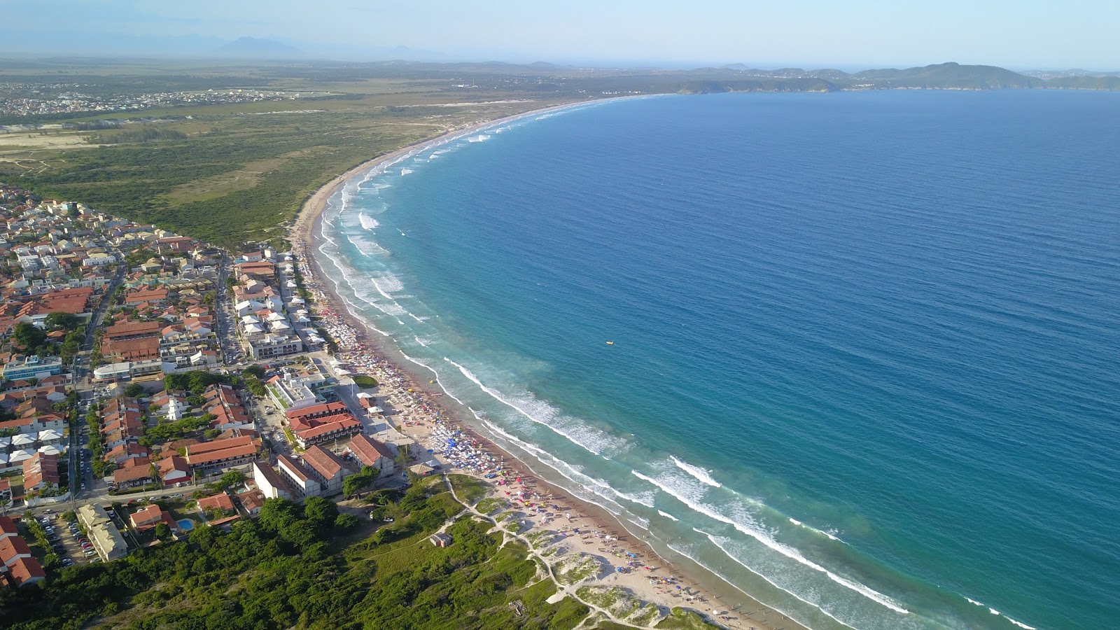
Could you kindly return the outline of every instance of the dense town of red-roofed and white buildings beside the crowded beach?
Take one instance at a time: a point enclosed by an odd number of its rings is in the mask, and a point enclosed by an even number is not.
[[[405,483],[404,438],[376,382],[330,358],[292,253],[0,185],[0,581],[342,495],[346,478]]]

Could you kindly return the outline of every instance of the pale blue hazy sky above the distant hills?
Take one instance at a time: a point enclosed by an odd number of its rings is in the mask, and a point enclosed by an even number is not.
[[[250,36],[367,61],[1120,70],[1118,27],[1120,0],[0,0],[4,53]]]

